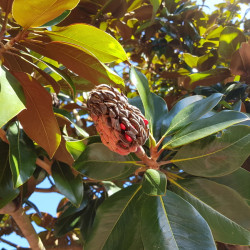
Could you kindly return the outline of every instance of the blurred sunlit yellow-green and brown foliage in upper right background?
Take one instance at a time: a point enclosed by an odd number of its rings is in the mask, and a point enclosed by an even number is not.
[[[249,77],[247,45],[240,56],[233,55],[250,30],[247,12],[239,14],[240,4],[248,1],[225,1],[207,14],[205,1],[202,6],[187,0],[81,1],[65,23],[92,23],[115,36],[130,60],[143,69],[151,90],[172,107],[199,85],[210,86],[233,75]],[[127,70],[123,73],[128,80]]]

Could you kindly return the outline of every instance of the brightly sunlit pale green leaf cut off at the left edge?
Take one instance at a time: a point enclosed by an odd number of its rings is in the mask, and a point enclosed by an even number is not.
[[[20,83],[5,68],[0,67],[0,128],[23,109],[25,97]]]

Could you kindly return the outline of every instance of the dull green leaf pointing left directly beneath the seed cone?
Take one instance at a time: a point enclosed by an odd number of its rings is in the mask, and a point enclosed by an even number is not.
[[[118,180],[130,176],[140,166],[131,156],[119,155],[102,143],[93,143],[86,147],[74,167],[91,179]]]

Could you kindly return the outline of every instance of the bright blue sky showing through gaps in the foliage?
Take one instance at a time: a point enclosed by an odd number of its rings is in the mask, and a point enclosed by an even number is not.
[[[222,1],[218,0],[216,2],[220,3]],[[211,13],[212,11],[214,11],[215,10],[215,8],[213,7],[214,3],[215,3],[215,1],[207,0],[205,5],[209,6],[209,8],[206,8],[204,10],[207,11],[208,13]],[[198,0],[197,4],[202,4],[202,0]],[[250,8],[250,6],[247,6],[245,4],[241,4],[241,7],[242,7],[243,14],[245,13],[245,11],[248,8]],[[248,12],[247,18],[250,19],[250,11]],[[46,178],[38,187],[39,188],[49,188],[50,186],[51,185]],[[63,196],[60,194],[57,194],[57,193],[33,193],[29,200],[31,202],[33,202],[34,204],[36,204],[36,206],[38,207],[38,209],[41,212],[47,212],[47,213],[51,214],[52,216],[56,217],[56,208],[57,208],[59,201],[62,198],[63,198]],[[28,214],[34,213],[34,212],[35,212],[34,210],[30,210],[30,211],[28,211]],[[42,230],[42,228],[35,225],[35,223],[33,225],[34,225],[37,232],[40,232]],[[3,238],[14,243],[14,244],[17,244],[19,246],[29,247],[27,240],[19,237],[15,233],[12,233],[9,236],[4,236]],[[8,244],[0,242],[0,250],[2,250],[2,249],[14,250],[14,248],[10,247]]]

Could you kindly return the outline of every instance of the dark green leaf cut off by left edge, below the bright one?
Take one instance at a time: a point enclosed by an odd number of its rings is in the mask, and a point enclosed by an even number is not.
[[[12,201],[19,194],[15,189],[9,165],[9,146],[0,140],[0,208]]]

